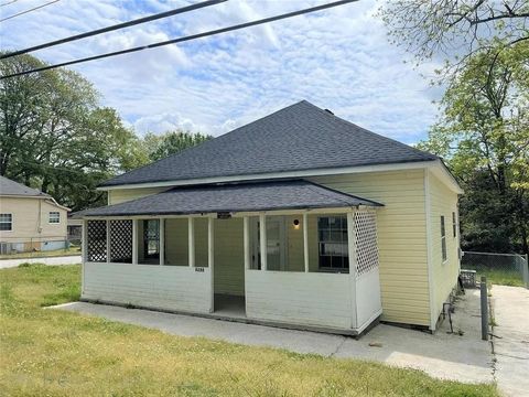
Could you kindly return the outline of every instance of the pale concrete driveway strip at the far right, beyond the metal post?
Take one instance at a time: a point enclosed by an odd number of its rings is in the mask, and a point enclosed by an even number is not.
[[[529,396],[529,290],[493,286],[496,379],[508,396]]]

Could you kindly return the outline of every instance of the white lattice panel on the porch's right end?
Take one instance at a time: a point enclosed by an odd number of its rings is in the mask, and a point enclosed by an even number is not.
[[[356,275],[378,267],[377,215],[370,211],[355,213]]]

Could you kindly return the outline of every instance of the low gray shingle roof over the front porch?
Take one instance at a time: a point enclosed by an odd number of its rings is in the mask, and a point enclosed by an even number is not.
[[[73,214],[73,217],[185,215],[358,205],[381,204],[298,180],[173,187],[147,197],[85,210],[79,214]]]

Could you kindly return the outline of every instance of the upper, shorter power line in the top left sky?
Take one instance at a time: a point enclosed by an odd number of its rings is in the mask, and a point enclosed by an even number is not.
[[[196,3],[196,4],[182,7],[182,8],[179,8],[179,9],[174,9],[174,10],[170,10],[170,11],[165,11],[165,12],[160,12],[158,14],[153,14],[153,15],[150,15],[150,17],[144,17],[144,18],[140,18],[140,19],[137,19],[137,20],[132,20],[132,21],[128,21],[128,22],[123,22],[123,23],[118,23],[118,24],[115,24],[115,25],[111,25],[111,26],[108,26],[108,28],[101,28],[101,29],[97,29],[97,30],[94,30],[94,31],[90,31],[90,32],[76,34],[76,35],[73,35],[73,36],[69,36],[69,37],[66,37],[66,39],[61,39],[61,40],[55,40],[55,41],[52,41],[52,42],[48,42],[48,43],[39,44],[39,45],[32,46],[32,47],[29,47],[29,49],[13,51],[13,52],[0,55],[0,60],[4,60],[4,58],[12,57],[12,56],[15,56],[15,55],[26,54],[29,52],[33,52],[33,51],[37,51],[37,50],[42,50],[42,49],[47,49],[47,47],[51,47],[51,46],[54,46],[54,45],[64,44],[64,43],[73,42],[73,41],[85,39],[85,37],[90,37],[90,36],[97,35],[97,34],[111,32],[111,31],[115,31],[115,30],[118,30],[118,29],[133,26],[133,25],[137,25],[137,24],[140,24],[140,23],[155,21],[155,20],[159,20],[159,19],[162,19],[162,18],[176,15],[176,14],[180,14],[180,13],[197,10],[197,9],[201,9],[201,8],[204,8],[204,7],[215,6],[215,4],[225,2],[225,1],[228,1],[228,0],[208,0],[208,1],[203,1],[203,2]]]

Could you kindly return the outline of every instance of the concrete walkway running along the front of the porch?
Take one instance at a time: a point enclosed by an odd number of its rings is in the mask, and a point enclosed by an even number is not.
[[[438,378],[492,383],[490,346],[481,341],[478,304],[477,291],[468,291],[458,302],[454,330],[461,330],[463,335],[446,333],[449,322],[445,321],[434,335],[380,324],[360,340],[86,302],[55,308],[156,329],[174,335],[205,336],[298,353],[371,360],[422,369]]]

